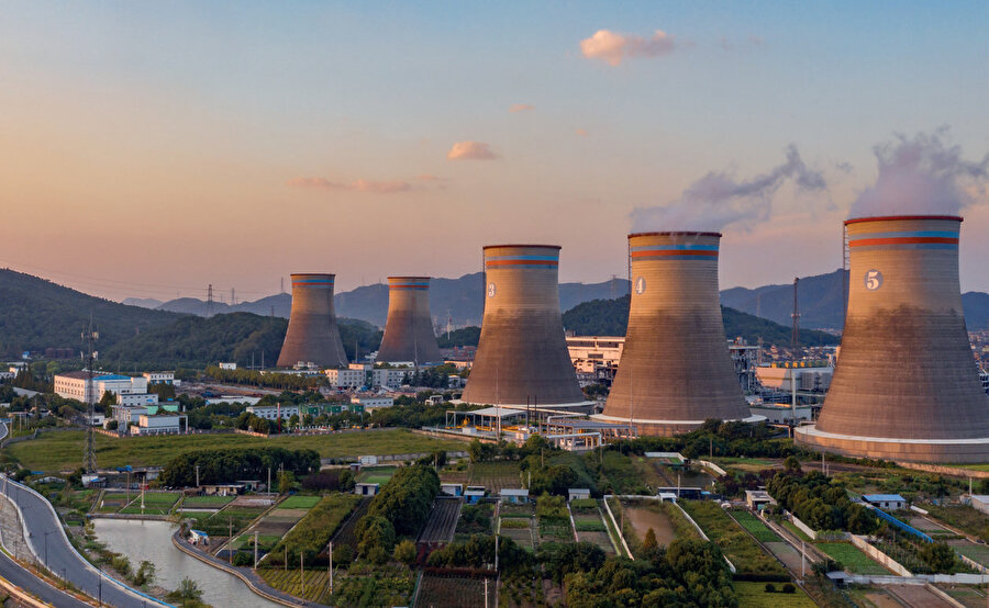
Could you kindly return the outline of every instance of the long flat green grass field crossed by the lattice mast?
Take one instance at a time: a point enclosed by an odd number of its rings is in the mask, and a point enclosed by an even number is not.
[[[32,471],[73,471],[79,466],[84,431],[48,432],[38,439],[14,443],[7,453]],[[158,465],[197,450],[275,447],[290,450],[312,449],[321,458],[408,454],[433,450],[462,451],[466,443],[415,435],[408,429],[386,429],[338,435],[275,436],[181,435],[165,437],[96,436],[100,468]]]

